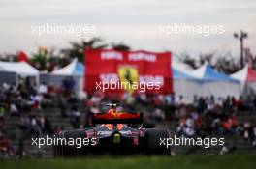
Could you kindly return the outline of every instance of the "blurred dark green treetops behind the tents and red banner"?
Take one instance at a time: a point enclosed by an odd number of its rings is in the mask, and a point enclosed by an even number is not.
[[[47,49],[40,47],[37,52],[32,53],[30,63],[38,70],[47,70],[48,72],[54,70],[55,67],[62,68],[68,65],[74,58],[83,63],[85,48],[100,48],[104,49],[111,46],[118,51],[129,51],[131,47],[123,42],[106,43],[101,38],[95,37],[90,40],[81,40],[78,42],[69,42],[70,46],[62,48],[60,51],[55,51],[54,48]],[[1,61],[17,61],[16,54],[0,54]],[[193,69],[199,68],[206,61],[214,67],[214,69],[224,72],[226,74],[233,73],[240,70],[240,60],[234,58],[230,52],[218,53],[209,52],[202,53],[199,57],[194,57],[183,52],[181,54],[173,53],[173,57],[178,58],[182,63],[189,65]],[[252,67],[256,69],[256,56],[252,57]]]

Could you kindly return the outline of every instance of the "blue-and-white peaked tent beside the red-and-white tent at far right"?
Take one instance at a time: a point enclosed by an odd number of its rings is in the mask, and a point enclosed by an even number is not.
[[[213,70],[208,64],[191,71],[190,75],[201,80],[200,91],[197,91],[199,96],[221,98],[240,96],[240,81]]]

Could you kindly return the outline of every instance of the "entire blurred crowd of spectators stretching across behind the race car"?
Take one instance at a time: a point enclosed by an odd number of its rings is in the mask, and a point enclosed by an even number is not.
[[[246,99],[195,96],[194,101],[188,104],[175,93],[168,96],[144,93],[132,96],[125,93],[118,97],[107,97],[102,92],[76,94],[73,87],[72,79],[65,79],[60,88],[46,83],[36,86],[29,78],[19,80],[17,86],[3,83],[0,88],[0,152],[22,156],[27,151],[23,142],[31,135],[54,134],[63,129],[62,126],[53,126],[46,113],[49,106],[56,105],[57,113],[69,119],[73,128],[84,128],[91,126],[92,113],[107,111],[102,105],[110,101],[120,102],[120,111],[144,112],[146,127],[170,122],[175,124],[177,135],[194,137],[236,134],[251,141],[256,147],[255,118],[245,122],[240,122],[238,118],[241,112],[256,116],[255,96]],[[5,123],[13,117],[18,118],[16,127],[21,133],[10,138]],[[12,147],[13,139],[19,142],[16,150]]]

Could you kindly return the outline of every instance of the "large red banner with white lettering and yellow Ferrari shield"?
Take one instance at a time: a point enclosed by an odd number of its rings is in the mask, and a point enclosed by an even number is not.
[[[87,92],[173,92],[171,52],[86,49],[84,55],[84,89]]]

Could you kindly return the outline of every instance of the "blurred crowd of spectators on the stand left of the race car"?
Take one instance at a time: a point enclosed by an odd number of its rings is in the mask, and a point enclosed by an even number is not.
[[[72,83],[63,80],[63,86],[56,88],[53,84],[42,83],[39,86],[29,77],[19,79],[18,85],[4,82],[0,88],[0,153],[1,156],[30,154],[24,145],[33,135],[53,134],[62,127],[53,128],[50,116],[46,115],[45,107],[52,104],[58,96],[72,96]],[[17,118],[17,123],[10,127],[6,122]],[[20,133],[16,132],[16,128]],[[18,141],[16,151],[11,140]]]

